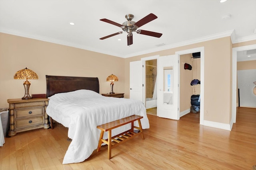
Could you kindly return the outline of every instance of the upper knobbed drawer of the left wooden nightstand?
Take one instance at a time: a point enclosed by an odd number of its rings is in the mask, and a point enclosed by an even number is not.
[[[35,115],[44,115],[44,107],[30,109],[15,109],[15,118],[22,118]]]

